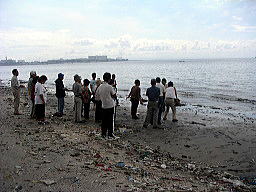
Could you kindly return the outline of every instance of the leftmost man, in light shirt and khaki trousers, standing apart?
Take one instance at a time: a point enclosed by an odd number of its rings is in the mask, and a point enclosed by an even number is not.
[[[12,70],[13,77],[11,79],[11,88],[14,97],[14,115],[21,115],[19,112],[20,106],[20,88],[23,87],[18,81],[19,72],[17,69]]]

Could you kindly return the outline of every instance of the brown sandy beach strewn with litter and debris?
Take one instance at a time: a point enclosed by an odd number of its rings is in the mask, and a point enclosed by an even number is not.
[[[53,117],[57,99],[48,94],[49,125],[29,118],[26,95],[20,116],[13,97],[0,88],[1,191],[256,191],[256,129],[250,119],[222,117],[177,109],[160,129],[142,128],[121,101],[116,135],[100,138],[94,111],[84,124],[73,122],[73,98],[66,97],[65,116]],[[245,178],[243,180],[243,178]]]

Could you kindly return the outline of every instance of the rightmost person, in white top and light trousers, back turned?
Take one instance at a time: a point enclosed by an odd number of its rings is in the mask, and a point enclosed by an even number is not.
[[[166,111],[165,111],[163,120],[167,120],[167,115],[168,115],[169,109],[171,107],[171,109],[172,109],[172,121],[173,122],[178,121],[177,118],[176,118],[176,106],[175,106],[175,102],[174,102],[175,98],[177,98],[176,88],[173,87],[173,82],[170,81],[168,83],[168,88],[166,89],[166,93],[165,93]]]

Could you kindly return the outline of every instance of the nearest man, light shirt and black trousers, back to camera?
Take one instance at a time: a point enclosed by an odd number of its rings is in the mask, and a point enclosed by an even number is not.
[[[108,83],[110,82],[111,74],[104,73],[104,82],[98,87],[97,93],[102,102],[102,124],[101,131],[102,137],[106,138],[108,134],[108,139],[115,139],[116,136],[113,134],[113,114],[114,114],[114,100],[116,96],[115,91],[112,86]]]

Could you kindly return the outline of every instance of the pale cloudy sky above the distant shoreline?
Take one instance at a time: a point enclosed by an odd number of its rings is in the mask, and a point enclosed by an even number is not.
[[[256,56],[256,0],[0,0],[0,60]]]

